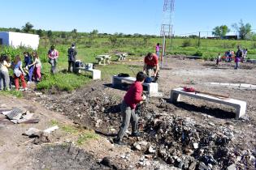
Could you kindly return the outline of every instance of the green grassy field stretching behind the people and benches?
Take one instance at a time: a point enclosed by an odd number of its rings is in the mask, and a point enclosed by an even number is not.
[[[47,62],[47,52],[50,47],[49,40],[42,39],[38,49],[39,57],[42,66],[43,79],[41,83],[37,84],[39,90],[57,89],[60,91],[72,91],[78,87],[84,86],[90,82],[89,74],[67,74],[67,49],[76,42],[78,51],[77,59],[82,62],[97,62],[95,56],[98,54],[114,54],[115,52],[129,53],[129,59],[142,60],[146,53],[154,53],[154,45],[162,43],[161,38],[135,38],[135,37],[116,37],[115,40],[111,38],[82,38],[82,39],[67,39],[55,41],[55,49],[59,50],[58,74],[50,74],[50,64]],[[173,39],[167,40],[167,54],[183,54],[183,55],[202,55],[204,59],[217,57],[218,53],[224,53],[227,50],[236,51],[236,46],[241,45],[248,49],[248,57],[256,58],[256,42],[249,40],[200,40],[200,47],[198,47],[197,39]],[[14,57],[16,54],[22,55],[24,51],[32,51],[32,49],[11,49],[1,47],[1,53],[7,53]],[[112,55],[112,61],[117,58]],[[128,63],[111,64],[110,66],[96,66],[97,69],[102,70],[102,79],[111,79],[111,75],[118,73],[128,73],[133,75],[132,70],[129,69]],[[132,66],[137,72],[142,70],[141,67]]]

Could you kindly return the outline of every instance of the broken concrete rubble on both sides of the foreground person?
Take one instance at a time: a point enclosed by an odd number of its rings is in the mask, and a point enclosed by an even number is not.
[[[121,121],[120,100],[97,89],[80,93],[83,95],[70,96],[68,100],[67,97],[63,100],[49,97],[38,101],[93,129],[106,134],[117,133]],[[241,169],[254,168],[255,151],[244,151],[233,145],[235,135],[241,132],[234,129],[232,122],[202,124],[191,117],[171,115],[173,108],[163,99],[156,105],[161,109],[138,105],[136,113],[140,117],[142,136],[134,139],[126,135],[124,138],[124,142],[142,154],[138,162],[141,167],[152,166],[152,161],[162,159],[169,167],[190,170],[226,169],[232,164]],[[122,155],[122,159],[128,156]]]

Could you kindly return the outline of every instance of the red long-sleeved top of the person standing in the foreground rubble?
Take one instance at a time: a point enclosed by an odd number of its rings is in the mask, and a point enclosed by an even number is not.
[[[124,102],[128,104],[132,109],[136,108],[136,105],[142,100],[143,87],[141,82],[136,81],[132,83],[131,87],[124,96]]]

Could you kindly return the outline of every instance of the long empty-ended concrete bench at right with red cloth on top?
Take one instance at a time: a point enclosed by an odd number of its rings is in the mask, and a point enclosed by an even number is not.
[[[230,98],[218,98],[215,96],[209,96],[209,95],[202,94],[202,93],[195,94],[195,92],[183,91],[183,88],[180,87],[180,88],[171,90],[171,98],[170,98],[171,103],[176,103],[177,101],[180,101],[181,95],[232,106],[232,107],[236,108],[236,119],[245,115],[245,111],[246,111],[246,102],[245,101],[234,100],[234,99],[230,99]]]

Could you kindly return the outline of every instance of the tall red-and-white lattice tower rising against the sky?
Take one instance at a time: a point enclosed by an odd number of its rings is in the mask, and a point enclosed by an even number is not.
[[[161,33],[160,33],[160,35],[163,37],[161,67],[163,67],[163,59],[166,60],[166,65],[167,65],[167,58],[165,57],[166,49],[167,49],[167,38],[172,38],[172,36],[173,36],[173,34],[172,34],[173,23],[172,22],[173,22],[173,13],[174,13],[174,2],[175,2],[175,0],[164,0],[164,2],[163,2],[163,21],[162,21]]]

